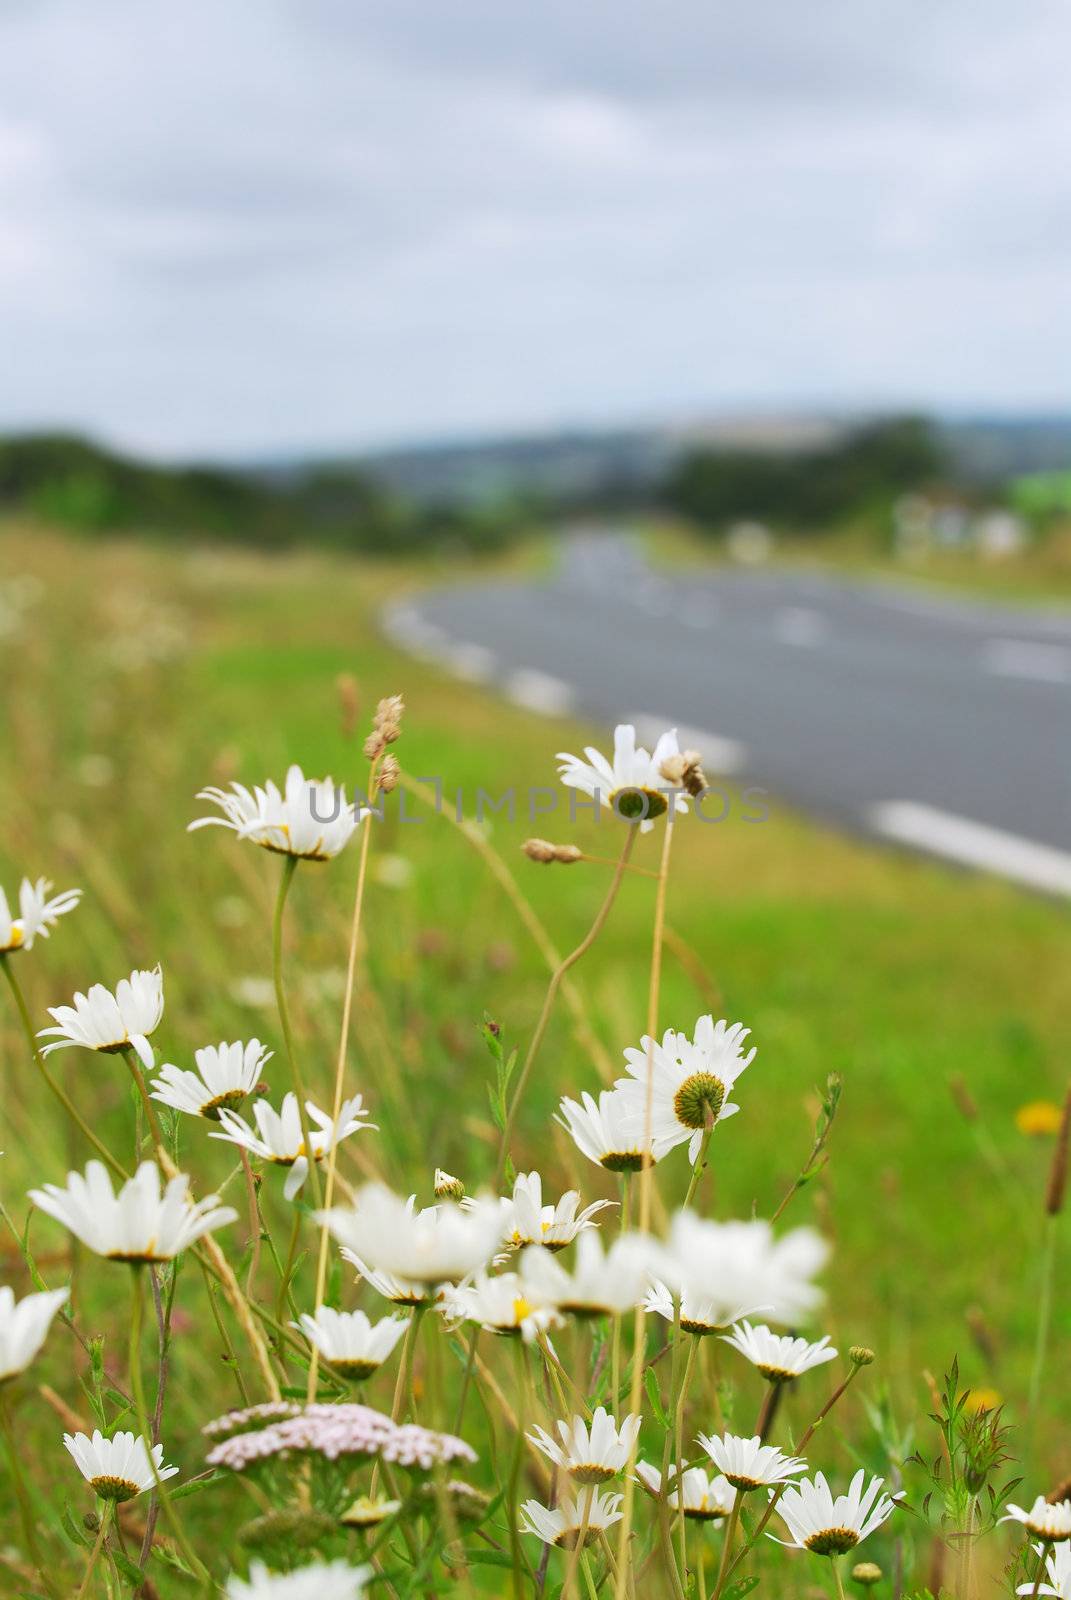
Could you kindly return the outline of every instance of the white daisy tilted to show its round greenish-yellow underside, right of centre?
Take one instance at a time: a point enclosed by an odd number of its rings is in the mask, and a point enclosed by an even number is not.
[[[624,1051],[631,1075],[618,1078],[616,1088],[626,1096],[640,1128],[647,1117],[650,1053],[650,1131],[655,1144],[671,1150],[687,1142],[688,1160],[695,1162],[706,1130],[740,1110],[728,1094],[756,1058],[754,1048],[746,1054],[741,1048],[749,1032],[743,1022],[716,1022],[712,1016],[701,1016],[693,1040],[668,1027],[661,1043],[645,1034],[639,1050]]]

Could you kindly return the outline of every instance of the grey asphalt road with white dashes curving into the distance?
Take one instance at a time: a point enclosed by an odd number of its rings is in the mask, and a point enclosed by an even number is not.
[[[679,726],[708,773],[1071,896],[1071,616],[781,571],[653,573],[576,534],[557,573],[442,589],[391,635],[548,714]]]

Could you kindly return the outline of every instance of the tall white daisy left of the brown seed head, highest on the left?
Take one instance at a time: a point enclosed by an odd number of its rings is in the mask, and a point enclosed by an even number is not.
[[[301,861],[338,856],[367,814],[347,803],[341,784],[330,778],[306,778],[299,766],[288,770],[282,794],[269,779],[263,789],[253,790],[243,784],[231,784],[229,792],[202,789],[197,798],[211,800],[223,816],[199,818],[189,824],[191,834],[199,827],[229,827],[239,838]]]

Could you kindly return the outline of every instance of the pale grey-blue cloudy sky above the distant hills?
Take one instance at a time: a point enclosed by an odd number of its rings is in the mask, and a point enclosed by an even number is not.
[[[0,0],[0,429],[1063,408],[1065,0]]]

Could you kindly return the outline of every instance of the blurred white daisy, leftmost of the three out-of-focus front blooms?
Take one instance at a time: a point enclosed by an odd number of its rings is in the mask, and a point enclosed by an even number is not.
[[[355,1210],[336,1206],[317,1221],[327,1221],[362,1274],[386,1272],[424,1285],[424,1293],[485,1267],[503,1234],[498,1200],[477,1198],[464,1208],[443,1200],[418,1211],[413,1198],[402,1200],[384,1184],[365,1184]]]

